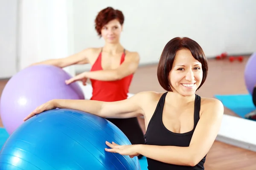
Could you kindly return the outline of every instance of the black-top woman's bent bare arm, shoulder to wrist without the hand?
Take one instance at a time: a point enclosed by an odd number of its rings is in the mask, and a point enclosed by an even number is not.
[[[195,166],[208,153],[221,126],[223,105],[214,99],[195,128],[189,147],[140,145],[138,153],[168,164]]]

